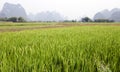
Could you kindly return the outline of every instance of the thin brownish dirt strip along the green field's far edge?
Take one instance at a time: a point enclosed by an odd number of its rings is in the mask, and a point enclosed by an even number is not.
[[[63,28],[63,27],[72,27],[72,26],[120,26],[120,24],[56,24],[48,26],[36,26],[36,27],[24,27],[24,28],[3,28],[0,29],[0,32],[15,32],[23,30],[35,30],[35,29],[48,29],[48,28]]]

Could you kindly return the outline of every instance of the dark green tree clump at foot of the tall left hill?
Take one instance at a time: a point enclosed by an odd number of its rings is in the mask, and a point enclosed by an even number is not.
[[[0,21],[6,21],[6,22],[25,22],[25,19],[23,17],[10,17],[10,18],[0,18]]]

